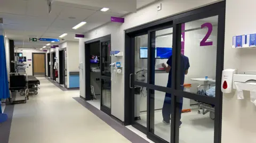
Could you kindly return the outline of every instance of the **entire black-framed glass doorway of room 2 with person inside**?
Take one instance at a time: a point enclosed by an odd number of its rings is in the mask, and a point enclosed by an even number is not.
[[[224,35],[225,2],[126,30],[125,125],[155,142],[220,142]]]

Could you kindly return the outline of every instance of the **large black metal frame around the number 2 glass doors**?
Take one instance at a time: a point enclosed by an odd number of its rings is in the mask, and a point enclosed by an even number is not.
[[[170,16],[162,20],[154,21],[139,27],[135,27],[125,31],[125,125],[133,125],[133,127],[147,134],[147,137],[156,142],[167,142],[154,134],[154,90],[163,91],[172,94],[172,110],[171,113],[171,142],[179,142],[179,119],[178,105],[176,105],[177,96],[199,100],[203,103],[215,105],[214,119],[214,143],[221,142],[221,119],[222,119],[222,92],[221,92],[221,74],[223,70],[224,55],[224,38],[225,38],[225,7],[226,1],[218,2],[208,6],[201,7],[196,10],[188,11],[178,15]],[[180,56],[181,52],[181,23],[195,21],[218,15],[218,41],[217,41],[217,65],[216,65],[216,97],[207,97],[193,94],[180,90],[180,81],[176,77],[180,77]],[[151,71],[155,65],[155,54],[151,47],[154,45],[152,41],[155,39],[155,31],[173,27],[173,60],[172,60],[172,88],[153,85],[152,78],[155,71]],[[134,75],[134,37],[148,34],[148,83],[132,80],[130,85],[130,74]],[[151,70],[149,70],[151,69]],[[132,76],[134,79],[134,76]],[[134,82],[133,82],[134,81]],[[134,122],[134,90],[130,86],[142,86],[147,88],[147,128]]]

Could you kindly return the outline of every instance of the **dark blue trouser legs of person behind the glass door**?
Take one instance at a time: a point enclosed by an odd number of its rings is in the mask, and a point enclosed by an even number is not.
[[[165,98],[164,98],[164,105],[163,105],[163,110],[162,110],[162,114],[163,114],[163,119],[166,123],[170,123],[170,115],[171,115],[171,94],[165,94]],[[178,107],[179,107],[179,119],[181,119],[181,113],[182,113],[182,105],[183,105],[183,100],[181,99],[181,103],[177,103]],[[182,122],[180,121],[180,124]]]

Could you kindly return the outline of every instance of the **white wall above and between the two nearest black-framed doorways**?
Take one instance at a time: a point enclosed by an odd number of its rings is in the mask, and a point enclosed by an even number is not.
[[[155,21],[158,19],[165,18],[166,16],[171,16],[174,14],[178,14],[181,12],[185,12],[191,9],[196,9],[197,7],[201,7],[210,3],[217,2],[215,0],[164,0],[162,3],[162,10],[156,11],[157,4],[151,4],[139,11],[137,13],[132,13],[125,16],[125,23],[109,23],[105,26],[94,29],[90,32],[85,33],[85,38],[81,39],[79,52],[84,53],[84,45],[83,42],[95,38],[99,38],[102,36],[106,36],[111,34],[111,49],[124,51],[124,30],[130,29],[141,24],[148,23],[150,21]],[[81,54],[83,54],[81,53]],[[80,62],[83,62],[83,68],[85,67],[84,63],[84,54],[80,55]],[[114,58],[114,57],[113,57]],[[117,61],[116,58],[112,61]],[[122,59],[122,63],[124,65],[124,57]],[[125,69],[124,69],[125,72]],[[83,70],[82,76],[84,77],[85,71]],[[81,81],[85,84],[84,78],[81,76]],[[81,84],[82,85],[82,84]],[[81,94],[85,93],[85,89],[81,89]],[[117,117],[119,120],[124,121],[124,76],[123,74],[118,75],[115,78],[115,82],[112,82],[111,85],[111,114]],[[81,95],[85,97],[85,95]],[[122,101],[122,102],[121,102]]]

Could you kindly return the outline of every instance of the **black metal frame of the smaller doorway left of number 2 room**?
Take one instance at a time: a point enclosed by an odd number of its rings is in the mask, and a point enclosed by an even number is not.
[[[101,88],[101,101],[100,101],[100,110],[105,112],[108,115],[111,115],[111,107],[108,108],[107,106],[103,105],[102,103],[102,80],[110,80],[111,81],[111,77],[107,77],[107,76],[103,76],[102,75],[102,55],[101,55],[101,43],[106,42],[106,41],[110,41],[111,42],[111,35],[107,35],[104,37],[100,37],[97,39],[93,39],[90,41],[86,41],[85,42],[85,100],[91,100],[91,87],[90,87],[90,83],[91,83],[91,72],[90,72],[90,44],[92,43],[99,43],[100,47],[100,88]]]

